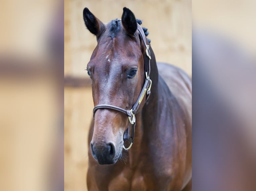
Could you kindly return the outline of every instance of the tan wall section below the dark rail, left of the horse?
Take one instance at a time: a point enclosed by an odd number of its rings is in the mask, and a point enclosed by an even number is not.
[[[91,87],[65,91],[65,191],[85,191],[88,167],[88,127],[92,119]]]

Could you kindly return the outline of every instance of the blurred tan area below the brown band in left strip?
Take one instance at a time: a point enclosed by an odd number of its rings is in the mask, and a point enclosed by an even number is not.
[[[45,191],[56,179],[56,170],[61,170],[52,164],[63,161],[56,150],[60,132],[56,79],[41,70],[13,71],[0,72],[0,190]]]

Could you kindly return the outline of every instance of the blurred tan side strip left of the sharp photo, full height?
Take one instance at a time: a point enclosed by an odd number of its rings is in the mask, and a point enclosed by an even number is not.
[[[0,190],[63,190],[62,1],[1,1]]]

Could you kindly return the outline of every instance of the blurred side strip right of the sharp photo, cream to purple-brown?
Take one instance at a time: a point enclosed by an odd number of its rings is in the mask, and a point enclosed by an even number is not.
[[[193,190],[256,189],[255,7],[193,1]]]

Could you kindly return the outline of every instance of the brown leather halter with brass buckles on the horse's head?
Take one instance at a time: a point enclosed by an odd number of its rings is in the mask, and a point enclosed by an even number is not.
[[[133,105],[133,107],[130,110],[125,110],[123,108],[113,106],[113,105],[107,105],[107,104],[96,105],[93,108],[93,117],[95,116],[95,112],[98,109],[113,109],[116,111],[123,112],[124,114],[126,114],[128,116],[129,121],[132,124],[132,134],[131,134],[131,136],[129,135],[129,126],[128,126],[128,128],[124,132],[123,139],[124,139],[124,142],[128,141],[130,143],[130,146],[128,148],[125,148],[125,146],[123,145],[123,149],[125,149],[125,150],[129,150],[132,146],[133,138],[134,138],[134,131],[135,131],[135,123],[136,123],[135,114],[140,106],[140,103],[142,102],[143,98],[145,97],[145,95],[146,95],[146,100],[148,99],[148,97],[150,95],[151,84],[152,84],[152,81],[149,79],[150,60],[151,60],[149,45],[147,45],[147,43],[146,43],[146,37],[145,37],[143,29],[141,28],[141,26],[139,24],[137,24],[137,26],[138,26],[137,30],[139,32],[139,35],[140,35],[141,39],[143,40],[144,45],[146,47],[146,57],[144,59],[146,81],[145,81],[142,91],[140,92],[139,98],[137,99],[137,101],[135,102],[135,104]]]

